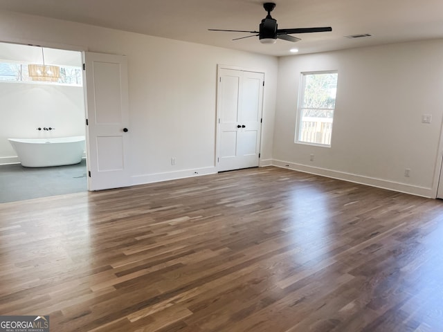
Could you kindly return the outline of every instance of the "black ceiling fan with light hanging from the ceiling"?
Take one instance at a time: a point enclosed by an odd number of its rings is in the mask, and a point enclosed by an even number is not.
[[[208,29],[210,31],[228,31],[233,33],[254,33],[255,35],[235,38],[233,40],[244,39],[249,37],[259,37],[262,44],[274,44],[277,39],[284,39],[288,42],[298,42],[300,38],[291,36],[293,33],[323,33],[332,31],[330,26],[320,28],[293,28],[293,29],[278,29],[277,20],[271,17],[271,12],[275,8],[275,3],[266,2],[263,3],[263,8],[268,12],[268,15],[262,19],[260,28],[258,31],[244,31],[244,30],[220,30],[220,29]]]

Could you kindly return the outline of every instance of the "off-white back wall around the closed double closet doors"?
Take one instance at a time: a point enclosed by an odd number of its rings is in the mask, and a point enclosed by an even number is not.
[[[0,12],[0,40],[127,55],[133,183],[215,172],[217,64],[264,71],[261,152],[272,157],[275,57],[12,12]]]

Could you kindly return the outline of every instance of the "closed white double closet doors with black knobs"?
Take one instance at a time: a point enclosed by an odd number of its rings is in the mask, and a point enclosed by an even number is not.
[[[257,167],[264,73],[219,68],[217,170]]]

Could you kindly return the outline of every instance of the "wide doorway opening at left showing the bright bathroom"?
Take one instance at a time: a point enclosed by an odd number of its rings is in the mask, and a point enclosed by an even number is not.
[[[49,67],[52,77],[38,77]],[[44,157],[44,167],[24,167],[24,156],[8,140],[43,141],[46,148],[60,138],[85,138],[85,113],[81,52],[0,43],[0,203],[87,191],[84,141],[71,165]],[[42,153],[31,149],[27,155]]]

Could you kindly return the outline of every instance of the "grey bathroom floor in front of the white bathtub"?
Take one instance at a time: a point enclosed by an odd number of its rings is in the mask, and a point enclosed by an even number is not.
[[[28,168],[0,165],[0,203],[87,191],[86,160],[77,165]]]

